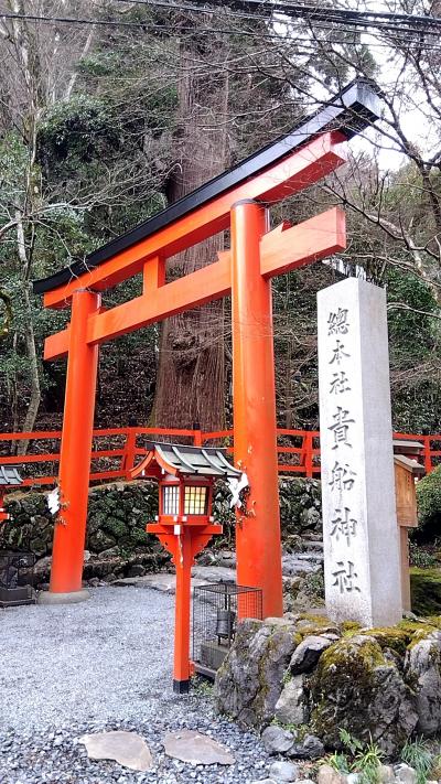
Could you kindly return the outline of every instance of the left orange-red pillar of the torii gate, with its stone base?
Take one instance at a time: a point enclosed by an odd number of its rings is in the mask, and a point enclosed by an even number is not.
[[[88,316],[100,296],[86,289],[72,298],[68,362],[60,457],[61,508],[54,530],[51,586],[45,602],[79,601],[86,536],[98,346],[86,343]]]

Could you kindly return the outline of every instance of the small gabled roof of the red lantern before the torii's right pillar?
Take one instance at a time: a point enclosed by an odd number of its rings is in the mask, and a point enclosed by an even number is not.
[[[133,479],[161,479],[164,473],[174,476],[239,479],[243,473],[228,462],[226,450],[216,447],[187,447],[182,443],[149,441],[147,449],[148,454],[131,471]]]

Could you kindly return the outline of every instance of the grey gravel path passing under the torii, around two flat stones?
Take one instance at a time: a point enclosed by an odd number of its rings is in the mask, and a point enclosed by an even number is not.
[[[203,694],[173,695],[174,598],[148,589],[98,588],[88,602],[0,614],[0,784],[107,782],[238,783],[265,777],[258,739],[213,715]],[[236,758],[230,767],[165,758],[168,731],[209,732]],[[105,729],[143,735],[148,773],[90,762],[78,738]]]

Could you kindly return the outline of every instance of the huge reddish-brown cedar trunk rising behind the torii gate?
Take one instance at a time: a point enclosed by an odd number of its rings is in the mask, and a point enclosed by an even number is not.
[[[170,203],[226,167],[227,73],[213,75],[200,55],[195,40],[183,42],[176,133],[180,160],[168,192]],[[168,279],[215,261],[222,248],[222,235],[189,248],[169,260]],[[166,320],[161,330],[154,425],[222,429],[224,395],[223,301]]]

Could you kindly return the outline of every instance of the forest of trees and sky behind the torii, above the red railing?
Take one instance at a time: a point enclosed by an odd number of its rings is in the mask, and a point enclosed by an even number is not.
[[[334,204],[348,218],[344,254],[273,282],[279,426],[319,426],[315,296],[351,273],[387,288],[395,429],[440,431],[441,4],[392,0],[379,18],[354,2],[355,22],[347,8],[0,0],[0,429],[62,421],[65,363],[42,354],[66,312],[44,311],[33,279],[364,77],[383,99],[377,128],[351,144],[337,174],[272,210],[275,224]],[[227,233],[170,259],[168,279],[213,261],[224,244]],[[130,423],[232,425],[228,300],[101,347],[96,427]]]

